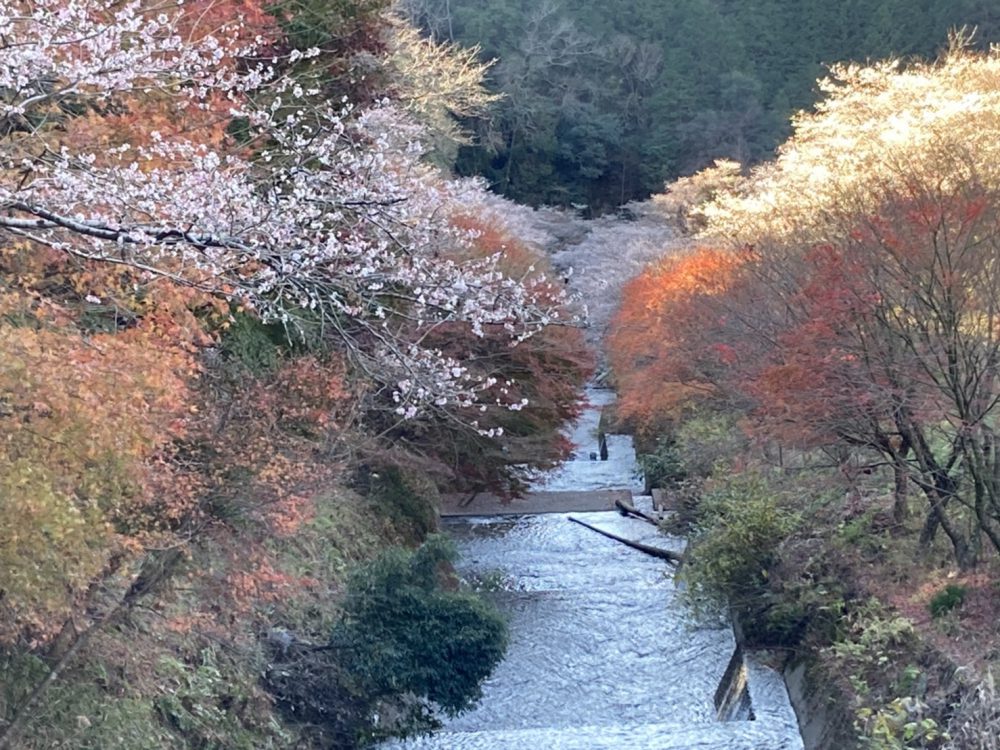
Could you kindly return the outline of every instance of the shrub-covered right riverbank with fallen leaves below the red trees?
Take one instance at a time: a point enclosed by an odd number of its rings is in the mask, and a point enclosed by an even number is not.
[[[699,447],[718,446],[681,453]],[[770,653],[807,750],[992,748],[991,566],[962,573],[943,541],[921,553],[918,519],[886,523],[891,496],[845,513],[827,481],[757,462],[675,482],[690,600],[725,602],[739,642]]]

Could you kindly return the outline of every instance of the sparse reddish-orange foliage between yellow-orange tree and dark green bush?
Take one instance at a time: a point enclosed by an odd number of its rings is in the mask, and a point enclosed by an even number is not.
[[[272,542],[309,523],[317,494],[340,478],[355,394],[343,363],[315,355],[282,356],[259,374],[216,363],[200,385],[185,454],[203,483],[202,529],[183,618],[222,635],[312,585],[282,569]]]

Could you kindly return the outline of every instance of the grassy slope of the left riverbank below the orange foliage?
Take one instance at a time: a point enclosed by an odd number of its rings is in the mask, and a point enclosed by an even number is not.
[[[294,537],[272,542],[274,560],[285,574],[261,566],[255,579],[227,580],[228,588],[212,589],[214,605],[204,600],[199,566],[222,566],[233,552],[206,550],[198,566],[182,563],[156,609],[137,608],[95,634],[88,650],[50,687],[30,732],[14,747],[313,746],[322,730],[285,716],[264,676],[292,643],[325,643],[349,573],[386,549],[419,543],[434,513],[429,494],[414,492],[404,506],[383,493],[332,486],[317,495],[315,513]],[[252,596],[252,606],[236,610],[239,619],[223,619],[236,596]],[[46,665],[4,654],[0,669],[0,709],[8,709]]]

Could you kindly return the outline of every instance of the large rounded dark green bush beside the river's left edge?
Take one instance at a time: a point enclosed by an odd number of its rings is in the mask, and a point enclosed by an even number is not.
[[[358,568],[329,643],[275,654],[267,681],[286,713],[349,748],[427,733],[440,713],[471,708],[503,658],[507,627],[494,607],[458,589],[453,557],[432,536]]]

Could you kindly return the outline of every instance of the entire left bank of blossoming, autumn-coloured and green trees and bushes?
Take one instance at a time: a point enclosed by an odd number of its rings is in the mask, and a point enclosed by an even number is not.
[[[467,708],[505,625],[438,491],[558,460],[588,369],[504,204],[430,163],[481,68],[383,0],[0,0],[0,36],[0,748]]]

